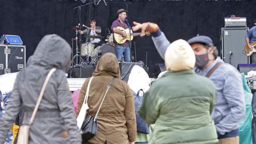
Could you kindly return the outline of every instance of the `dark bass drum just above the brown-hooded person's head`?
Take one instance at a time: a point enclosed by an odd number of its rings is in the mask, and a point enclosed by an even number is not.
[[[94,49],[92,52],[92,58],[100,58],[103,54],[111,52],[115,54],[115,47],[111,44],[102,44]]]

